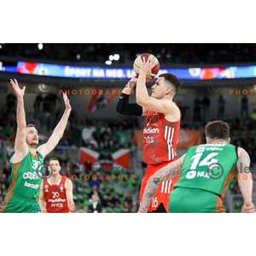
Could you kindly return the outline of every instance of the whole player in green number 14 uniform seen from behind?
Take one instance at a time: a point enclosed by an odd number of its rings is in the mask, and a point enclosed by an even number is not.
[[[205,126],[207,144],[189,148],[148,180],[139,212],[146,212],[158,183],[176,175],[180,179],[170,195],[169,212],[225,212],[224,194],[236,175],[244,199],[242,212],[256,212],[250,157],[243,148],[229,144],[229,131],[226,122],[209,122]]]

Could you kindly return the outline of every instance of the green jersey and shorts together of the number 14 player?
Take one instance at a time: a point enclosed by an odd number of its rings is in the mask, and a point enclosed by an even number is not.
[[[225,212],[224,195],[235,177],[237,160],[234,145],[189,148],[170,197],[169,212]]]

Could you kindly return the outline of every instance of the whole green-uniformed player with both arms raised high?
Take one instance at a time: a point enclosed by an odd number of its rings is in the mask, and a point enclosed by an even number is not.
[[[38,147],[38,131],[34,125],[26,125],[24,108],[24,93],[26,87],[20,88],[16,79],[10,84],[17,97],[17,133],[14,145],[14,155],[11,163],[11,185],[0,207],[0,212],[41,212],[38,198],[41,189],[41,178],[37,169],[43,167],[44,157],[49,154],[61,140],[71,106],[66,94],[63,94],[65,111],[55,127],[47,143]],[[42,166],[39,166],[42,165]],[[40,171],[40,170],[38,170]]]

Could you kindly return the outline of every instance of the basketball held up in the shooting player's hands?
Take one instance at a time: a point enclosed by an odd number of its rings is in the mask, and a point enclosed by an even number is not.
[[[160,70],[160,64],[159,61],[157,59],[157,57],[155,57],[152,54],[149,53],[143,53],[140,54],[134,61],[133,67],[134,67],[134,72],[136,73],[136,75],[138,76],[140,73],[140,67],[143,64],[143,58],[145,58],[145,60],[147,61],[148,58],[150,58],[151,63],[153,64],[153,67],[151,69],[151,73],[157,75],[159,70]],[[150,74],[147,75],[147,81],[151,80],[151,76]]]

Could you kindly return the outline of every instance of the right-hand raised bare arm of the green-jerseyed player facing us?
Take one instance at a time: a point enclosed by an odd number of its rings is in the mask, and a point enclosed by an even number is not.
[[[37,148],[37,151],[40,151],[42,154],[44,154],[44,157],[47,156],[47,154],[49,154],[56,145],[58,145],[67,127],[67,121],[70,116],[71,106],[69,99],[67,98],[67,94],[65,93],[63,94],[63,100],[65,103],[65,111],[61,117],[61,120],[58,122],[58,125],[55,127],[47,143]]]

